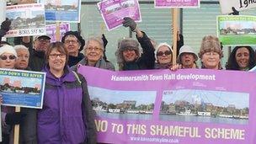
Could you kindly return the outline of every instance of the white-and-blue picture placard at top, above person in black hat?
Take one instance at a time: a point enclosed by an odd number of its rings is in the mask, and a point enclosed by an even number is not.
[[[80,23],[81,0],[38,0],[45,5],[45,20]]]

